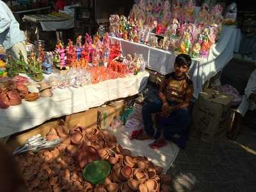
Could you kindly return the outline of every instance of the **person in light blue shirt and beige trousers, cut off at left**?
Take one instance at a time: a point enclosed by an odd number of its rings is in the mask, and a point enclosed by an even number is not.
[[[0,0],[0,44],[10,53],[13,60],[18,60],[21,52],[28,63],[25,40],[26,36],[20,30],[19,22],[10,8]]]

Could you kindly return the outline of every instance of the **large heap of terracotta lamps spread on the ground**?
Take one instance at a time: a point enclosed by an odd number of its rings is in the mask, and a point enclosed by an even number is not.
[[[172,179],[162,174],[162,167],[147,157],[132,156],[111,132],[83,127],[66,130],[58,126],[47,134],[47,140],[61,138],[58,147],[16,157],[28,191],[172,191]],[[111,173],[102,184],[92,185],[81,170],[97,159],[108,161]]]

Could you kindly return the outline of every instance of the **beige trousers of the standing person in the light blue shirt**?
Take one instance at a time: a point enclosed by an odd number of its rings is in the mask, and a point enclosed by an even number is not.
[[[20,58],[19,53],[21,52],[24,57],[24,61],[28,63],[28,54],[27,54],[25,42],[17,42],[10,49],[8,49],[8,52],[10,52],[13,60],[15,61],[19,60]]]

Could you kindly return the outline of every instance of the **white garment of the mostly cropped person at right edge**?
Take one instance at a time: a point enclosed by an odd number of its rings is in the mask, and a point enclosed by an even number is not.
[[[252,93],[256,94],[256,69],[253,70],[250,79],[247,83],[247,86],[244,90],[245,95],[243,95],[242,102],[237,108],[237,112],[240,113],[242,116],[246,114],[248,109],[255,110],[256,104],[249,99]]]

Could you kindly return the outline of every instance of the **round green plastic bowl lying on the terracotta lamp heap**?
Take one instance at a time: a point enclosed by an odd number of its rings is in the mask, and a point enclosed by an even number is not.
[[[108,177],[111,166],[107,161],[93,161],[87,164],[82,171],[84,179],[91,182],[93,185],[102,184]]]

